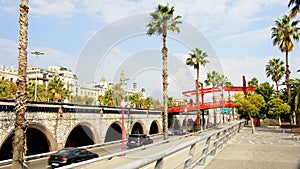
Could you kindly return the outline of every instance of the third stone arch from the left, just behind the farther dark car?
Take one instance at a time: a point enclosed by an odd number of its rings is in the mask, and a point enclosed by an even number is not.
[[[125,126],[124,126],[125,127]],[[126,135],[126,127],[124,129]],[[122,139],[122,124],[115,121],[109,125],[105,133],[104,142],[117,141]]]

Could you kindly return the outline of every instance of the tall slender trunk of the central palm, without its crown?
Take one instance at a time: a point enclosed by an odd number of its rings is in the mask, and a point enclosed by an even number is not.
[[[163,25],[163,48],[162,48],[162,54],[163,54],[163,72],[162,72],[162,78],[163,78],[163,134],[164,134],[164,140],[168,139],[168,49],[167,49],[167,25]]]

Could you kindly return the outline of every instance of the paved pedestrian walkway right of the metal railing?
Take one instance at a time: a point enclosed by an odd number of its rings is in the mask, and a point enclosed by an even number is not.
[[[271,127],[244,127],[197,169],[300,169],[300,141]]]

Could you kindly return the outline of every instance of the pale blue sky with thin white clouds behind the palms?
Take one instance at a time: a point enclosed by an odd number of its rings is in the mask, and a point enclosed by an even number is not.
[[[20,1],[0,0],[0,65],[18,66]],[[224,74],[235,86],[256,77],[274,84],[265,75],[272,58],[285,61],[271,40],[274,20],[289,12],[284,0],[30,0],[28,65],[70,68],[80,83],[105,77],[118,82],[125,71],[139,90],[161,96],[161,47],[159,35],[146,35],[146,25],[157,4],[174,6],[182,16],[180,33],[168,33],[169,96],[195,88],[195,70],[185,65],[188,53],[200,48],[209,64],[201,67],[200,81],[208,72]],[[43,52],[43,56],[30,54]],[[292,78],[299,78],[300,47],[290,53]],[[129,86],[129,88],[131,88]]]

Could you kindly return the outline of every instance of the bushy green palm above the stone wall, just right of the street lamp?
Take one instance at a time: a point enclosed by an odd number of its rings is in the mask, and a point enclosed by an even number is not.
[[[59,77],[54,77],[48,84],[47,91],[52,99],[52,101],[56,101],[62,98],[62,94],[64,92],[64,84]]]

